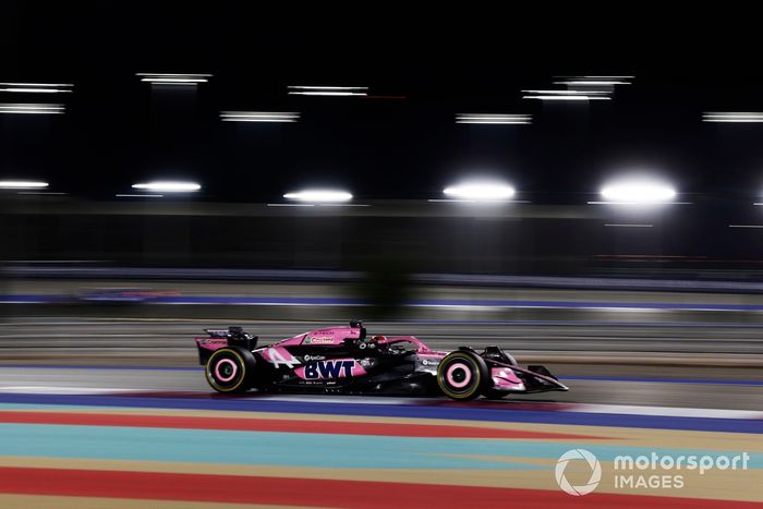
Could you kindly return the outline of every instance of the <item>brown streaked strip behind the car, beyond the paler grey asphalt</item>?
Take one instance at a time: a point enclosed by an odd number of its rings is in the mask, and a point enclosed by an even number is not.
[[[199,312],[201,314],[201,312]],[[192,338],[203,328],[242,325],[267,343],[336,322],[254,322],[215,319],[108,319],[45,318],[7,319],[0,330],[0,355],[16,352],[55,355],[98,349],[155,350],[175,356],[174,363],[192,362]],[[607,323],[605,320],[545,322],[380,322],[368,324],[368,334],[413,335],[433,347],[497,344],[518,355],[574,355],[606,353],[623,361],[629,354],[724,354],[763,357],[763,325],[724,323]],[[712,363],[711,363],[712,364]]]

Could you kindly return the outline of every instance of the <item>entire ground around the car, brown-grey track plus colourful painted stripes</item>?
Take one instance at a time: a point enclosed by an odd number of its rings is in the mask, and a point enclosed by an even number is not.
[[[0,506],[752,507],[763,500],[760,368],[580,364],[608,351],[756,356],[758,327],[690,324],[374,324],[440,349],[554,354],[566,393],[444,398],[258,395],[207,387],[192,338],[204,320],[25,319],[0,334]],[[244,323],[263,342],[324,323]],[[65,365],[69,364],[69,365]],[[89,364],[89,365],[87,365]],[[108,364],[108,365],[97,365]],[[150,367],[153,365],[154,367]],[[594,493],[555,478],[591,451]],[[615,458],[747,453],[747,469],[667,472],[682,487],[622,487]],[[589,469],[586,471],[586,469]],[[659,468],[630,474],[664,475]],[[590,481],[586,463],[566,470]]]

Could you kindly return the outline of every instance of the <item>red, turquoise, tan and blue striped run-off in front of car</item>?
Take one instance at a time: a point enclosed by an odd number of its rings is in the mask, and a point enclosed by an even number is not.
[[[0,368],[19,379],[15,368]],[[27,368],[106,379],[116,369]],[[3,507],[752,507],[763,497],[763,411],[548,402],[152,391],[150,369],[113,387],[0,389]],[[56,375],[58,373],[58,375]],[[185,371],[162,371],[180,381]],[[172,377],[165,375],[172,373]],[[48,375],[53,374],[53,375]],[[128,380],[132,381],[128,381]],[[189,380],[192,383],[191,380]],[[29,381],[33,384],[33,381]],[[88,385],[88,384],[84,384]],[[128,390],[130,389],[130,390]],[[571,497],[557,460],[601,462]],[[671,471],[678,488],[622,487],[616,458],[746,458],[740,470]],[[586,463],[566,475],[584,486]],[[582,473],[580,473],[582,472]],[[626,474],[662,475],[659,466]]]

